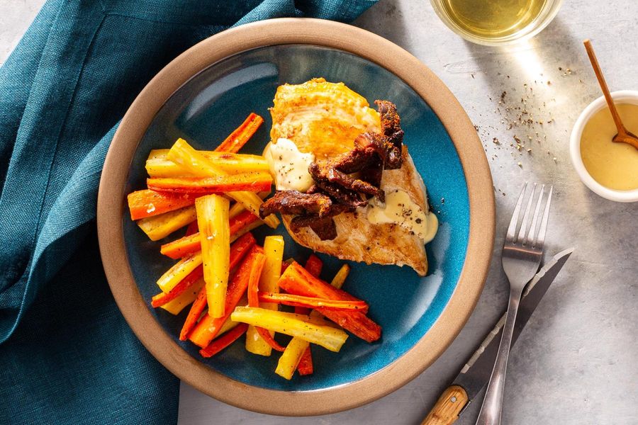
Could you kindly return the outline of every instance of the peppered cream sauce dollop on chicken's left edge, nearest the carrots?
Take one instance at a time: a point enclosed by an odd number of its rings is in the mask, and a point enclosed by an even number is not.
[[[270,172],[278,191],[305,192],[313,185],[308,166],[315,160],[313,154],[299,152],[291,140],[279,138],[264,149]]]

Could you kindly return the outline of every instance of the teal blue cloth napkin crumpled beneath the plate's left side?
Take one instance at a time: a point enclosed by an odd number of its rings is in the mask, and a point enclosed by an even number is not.
[[[214,33],[351,21],[374,1],[46,2],[0,68],[1,424],[177,421],[179,382],[130,331],[99,259],[96,194],[117,124],[159,69]]]

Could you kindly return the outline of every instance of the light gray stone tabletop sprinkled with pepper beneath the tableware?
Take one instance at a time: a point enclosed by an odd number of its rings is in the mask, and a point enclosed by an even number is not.
[[[0,2],[0,62],[42,3]],[[638,424],[638,204],[613,203],[589,191],[573,171],[567,147],[578,114],[600,96],[584,38],[592,39],[612,90],[638,89],[638,66],[626,65],[638,58],[638,2],[566,0],[542,33],[511,47],[465,42],[438,20],[427,0],[381,0],[354,25],[418,57],[478,126],[498,212],[485,290],[447,351],[376,402],[326,416],[281,418],[230,407],[182,384],[180,423],[419,424],[505,308],[508,283],[499,261],[505,225],[522,183],[538,181],[554,184],[547,251],[576,251],[510,356],[503,424]],[[535,122],[510,128],[523,100]],[[525,148],[517,149],[515,137]],[[457,424],[474,424],[481,397]]]

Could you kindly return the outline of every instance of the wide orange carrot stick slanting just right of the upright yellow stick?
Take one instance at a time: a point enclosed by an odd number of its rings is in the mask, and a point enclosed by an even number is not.
[[[211,317],[210,314],[204,314],[189,335],[189,340],[194,344],[201,348],[206,348],[206,346],[211,344],[211,341],[215,339],[226,319],[228,319],[233,310],[235,310],[237,302],[240,301],[242,295],[246,292],[250,280],[252,262],[257,258],[257,254],[263,254],[263,251],[260,246],[252,246],[250,253],[237,269],[230,283],[228,283],[224,305],[225,314],[222,317],[216,318]]]

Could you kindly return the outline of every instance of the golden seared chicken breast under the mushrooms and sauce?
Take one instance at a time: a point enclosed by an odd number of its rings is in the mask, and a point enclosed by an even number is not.
[[[365,98],[342,83],[313,79],[304,84],[284,84],[277,89],[271,109],[271,140],[291,140],[301,152],[313,153],[318,163],[337,159],[354,147],[354,140],[364,132],[381,132],[379,113],[369,108]],[[387,194],[405,191],[413,203],[429,212],[425,186],[403,147],[403,166],[385,170],[381,189]],[[369,210],[357,208],[342,212],[332,220],[337,235],[321,240],[310,227],[294,226],[293,215],[282,215],[284,225],[298,244],[340,259],[365,263],[407,265],[425,276],[425,244],[418,235],[394,223],[372,224]]]

